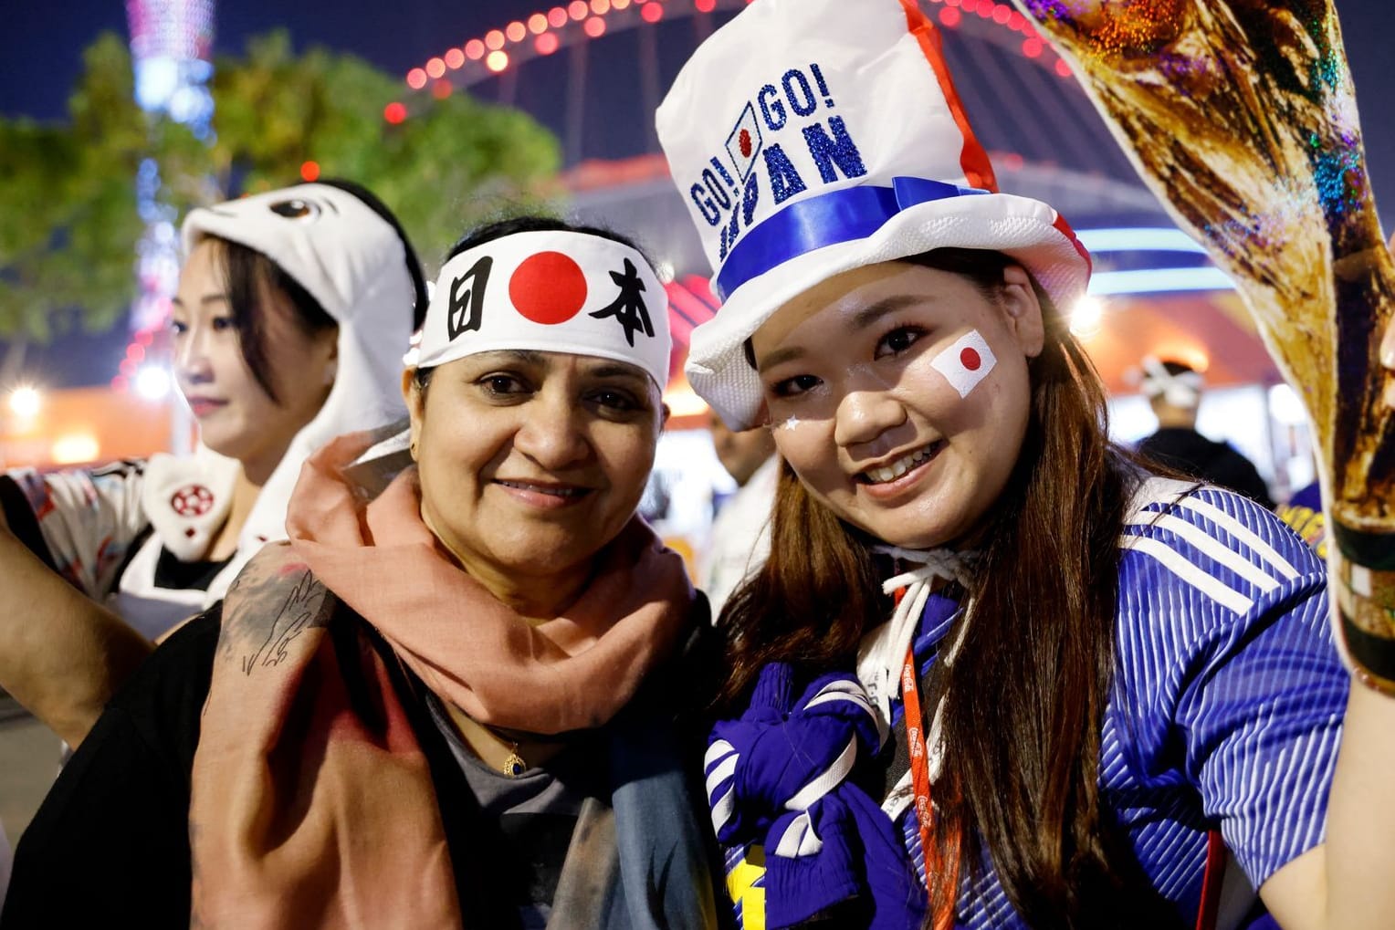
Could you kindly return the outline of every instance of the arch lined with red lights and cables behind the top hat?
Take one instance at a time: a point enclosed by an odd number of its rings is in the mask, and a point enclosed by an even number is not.
[[[569,0],[463,38],[406,74],[398,110],[470,89],[550,125],[569,166],[658,151],[653,113],[696,45],[748,0]],[[996,0],[921,0],[1004,190],[1070,215],[1155,213],[1070,68]]]

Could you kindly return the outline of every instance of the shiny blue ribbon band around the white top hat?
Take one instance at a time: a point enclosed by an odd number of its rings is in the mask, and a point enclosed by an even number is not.
[[[889,219],[918,204],[989,192],[923,177],[894,177],[891,187],[865,184],[808,197],[757,223],[737,243],[717,272],[717,296],[725,301],[752,277],[805,252],[866,238]]]

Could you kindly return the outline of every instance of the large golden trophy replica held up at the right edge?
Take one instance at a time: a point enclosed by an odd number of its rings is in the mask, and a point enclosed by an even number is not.
[[[1395,693],[1395,442],[1377,224],[1331,0],[1013,0],[1235,280],[1318,439],[1334,623]]]

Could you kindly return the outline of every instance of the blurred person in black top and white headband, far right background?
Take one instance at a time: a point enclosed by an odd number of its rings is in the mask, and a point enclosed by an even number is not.
[[[1274,498],[1254,463],[1228,442],[1197,432],[1201,372],[1180,361],[1143,360],[1143,393],[1158,417],[1158,431],[1138,443],[1138,453],[1158,464],[1200,478],[1274,508]]]

